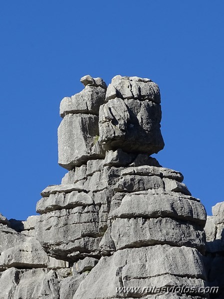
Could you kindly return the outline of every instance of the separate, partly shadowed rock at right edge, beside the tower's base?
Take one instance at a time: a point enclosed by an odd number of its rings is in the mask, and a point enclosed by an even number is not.
[[[207,217],[205,266],[211,287],[219,287],[214,298],[224,298],[224,202],[216,204]]]

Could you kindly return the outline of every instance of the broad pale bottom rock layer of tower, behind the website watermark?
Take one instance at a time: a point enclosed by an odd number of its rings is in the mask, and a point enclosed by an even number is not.
[[[101,258],[79,285],[73,299],[119,298],[116,292],[119,287],[134,286],[141,290],[152,285],[203,287],[203,279],[202,257],[195,249],[168,245],[125,249]]]

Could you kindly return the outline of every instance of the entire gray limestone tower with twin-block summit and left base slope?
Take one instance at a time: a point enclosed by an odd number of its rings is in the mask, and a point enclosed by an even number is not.
[[[180,172],[150,157],[164,147],[158,85],[121,76],[108,88],[89,75],[81,82],[83,91],[60,105],[61,185],[41,192],[39,216],[0,218],[0,291],[10,293],[2,299],[206,297],[206,211]]]

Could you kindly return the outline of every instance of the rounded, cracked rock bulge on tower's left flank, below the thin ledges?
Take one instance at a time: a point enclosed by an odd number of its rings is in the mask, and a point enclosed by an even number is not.
[[[97,255],[101,240],[97,240],[101,237],[97,209],[95,206],[79,206],[42,214],[37,239],[50,256],[59,259],[70,260],[68,255],[80,251]]]

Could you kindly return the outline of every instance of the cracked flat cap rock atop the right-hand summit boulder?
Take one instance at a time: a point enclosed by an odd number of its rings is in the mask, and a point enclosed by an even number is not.
[[[158,85],[146,78],[122,77],[120,75],[113,77],[107,88],[106,100],[108,101],[115,97],[122,99],[147,99],[160,104]]]

